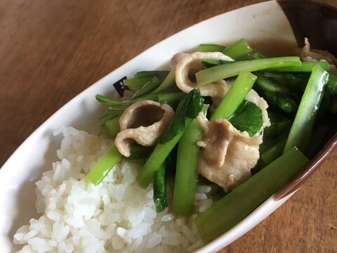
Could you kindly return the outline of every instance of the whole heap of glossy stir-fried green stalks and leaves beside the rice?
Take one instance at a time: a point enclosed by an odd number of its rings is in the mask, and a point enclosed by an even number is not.
[[[128,77],[124,82],[128,94],[124,93],[123,100],[101,95],[96,98],[108,107],[100,119],[101,134],[112,138],[121,131],[121,115],[134,103],[153,100],[169,104],[176,112],[153,149],[131,144],[131,155],[125,157],[143,164],[137,177],[140,186],[146,188],[154,181],[157,212],[168,206],[183,216],[193,212],[198,161],[204,148],[200,144],[204,134],[202,117],[198,115],[206,115],[207,124],[227,119],[243,135],[235,138],[260,138],[256,139],[260,159],[255,168],[250,168],[258,172],[241,180],[239,186],[233,184],[227,190],[229,193],[195,219],[201,236],[209,242],[244,219],[303,169],[308,162],[305,155],[317,113],[337,112],[337,76],[329,73],[326,61],[303,62],[297,56],[267,58],[244,39],[227,47],[201,44],[197,49],[222,52],[232,60],[201,58],[203,69],[192,73],[190,79],[195,79],[195,85],[188,93],[178,89],[173,67],[170,71],[142,71]],[[218,82],[230,84],[224,96],[203,96],[201,87],[223,85]],[[269,105],[267,115],[257,103],[247,99],[252,89]],[[97,185],[122,157],[113,144],[86,180]],[[172,203],[166,197],[166,174],[174,175]]]

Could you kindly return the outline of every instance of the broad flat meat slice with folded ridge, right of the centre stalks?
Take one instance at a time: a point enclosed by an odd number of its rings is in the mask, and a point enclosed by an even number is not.
[[[246,181],[256,166],[262,136],[249,137],[246,131],[238,131],[226,119],[209,122],[199,113],[197,116],[204,136],[198,145],[203,147],[199,157],[199,174],[226,192]]]

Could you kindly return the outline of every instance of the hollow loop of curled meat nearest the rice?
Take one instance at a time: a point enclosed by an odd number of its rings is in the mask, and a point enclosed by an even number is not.
[[[119,119],[121,131],[114,139],[119,153],[129,157],[130,144],[136,141],[140,145],[151,146],[169,127],[174,111],[166,103],[144,100],[130,105]]]

